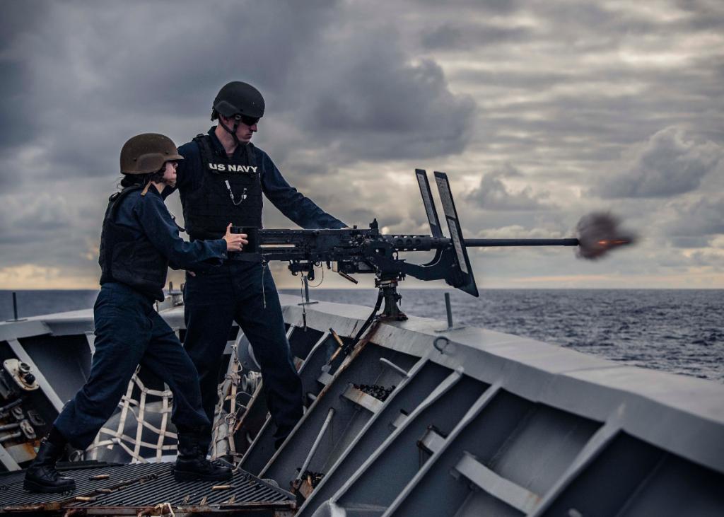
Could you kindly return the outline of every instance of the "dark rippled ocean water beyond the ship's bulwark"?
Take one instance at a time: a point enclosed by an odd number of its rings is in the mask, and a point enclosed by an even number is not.
[[[282,293],[300,295],[299,290]],[[401,308],[439,319],[445,290],[401,289]],[[532,337],[613,361],[724,383],[724,290],[481,290],[450,293],[455,324]],[[93,306],[97,291],[19,291],[19,316]],[[374,306],[374,289],[313,289],[311,298]],[[0,290],[0,319],[12,292]]]

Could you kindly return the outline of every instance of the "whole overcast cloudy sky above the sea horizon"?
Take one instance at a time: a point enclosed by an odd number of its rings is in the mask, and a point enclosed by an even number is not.
[[[8,0],[0,25],[0,288],[95,288],[122,144],[205,132],[230,80],[266,98],[255,143],[348,224],[429,232],[420,167],[470,238],[591,211],[640,238],[594,262],[476,250],[480,287],[724,287],[720,0]],[[293,227],[271,203],[264,223]]]

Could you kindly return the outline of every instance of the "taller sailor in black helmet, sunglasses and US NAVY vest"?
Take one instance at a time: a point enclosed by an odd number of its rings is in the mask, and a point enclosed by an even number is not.
[[[262,194],[303,228],[342,228],[292,188],[269,155],[251,143],[264,115],[264,98],[252,85],[234,81],[214,99],[218,125],[179,148],[177,171],[185,227],[192,241],[224,235],[228,222],[261,228]],[[302,387],[292,363],[282,308],[266,264],[229,260],[213,271],[187,274],[184,346],[198,370],[206,416],[214,421],[224,347],[237,322],[261,366],[274,440],[279,447],[302,416]],[[237,260],[235,260],[237,259]],[[206,445],[211,444],[211,428]]]

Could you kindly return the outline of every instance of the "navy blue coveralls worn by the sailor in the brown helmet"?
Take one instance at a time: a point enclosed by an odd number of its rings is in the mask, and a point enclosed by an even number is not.
[[[179,237],[177,224],[164,198],[151,186],[146,196],[140,190],[120,201],[117,222],[151,241],[159,258],[176,269],[193,269],[203,262],[220,263],[226,257],[226,241],[198,240],[187,243]],[[140,363],[172,390],[172,421],[178,429],[209,426],[201,407],[196,369],[169,325],[153,308],[158,293],[141,293],[121,282],[104,282],[93,307],[96,352],[90,376],[54,426],[73,447],[85,449],[114,412]]]

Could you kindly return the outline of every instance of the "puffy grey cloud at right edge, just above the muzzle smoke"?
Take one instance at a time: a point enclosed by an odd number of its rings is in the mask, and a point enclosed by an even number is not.
[[[699,188],[724,158],[724,148],[696,142],[677,127],[653,135],[629,157],[625,169],[600,179],[593,192],[604,198],[666,198]]]

